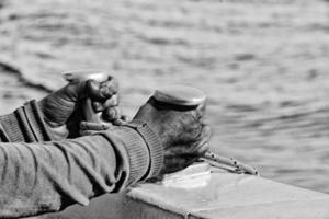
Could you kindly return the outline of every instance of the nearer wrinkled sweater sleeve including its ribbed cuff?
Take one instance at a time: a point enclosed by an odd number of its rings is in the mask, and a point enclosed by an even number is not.
[[[163,148],[146,123],[71,140],[0,143],[0,218],[58,211],[157,175]]]

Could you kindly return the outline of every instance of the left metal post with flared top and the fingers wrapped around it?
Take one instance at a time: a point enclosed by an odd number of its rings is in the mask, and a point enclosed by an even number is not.
[[[118,83],[104,70],[87,69],[63,73],[69,83],[86,82],[89,93],[81,100],[84,120],[80,124],[83,135],[103,130],[112,124],[123,123],[118,107]]]

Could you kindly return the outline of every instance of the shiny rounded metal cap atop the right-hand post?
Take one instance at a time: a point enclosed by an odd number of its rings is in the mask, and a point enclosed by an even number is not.
[[[157,89],[154,99],[173,105],[197,106],[205,102],[206,95],[198,89],[186,85],[168,85]]]

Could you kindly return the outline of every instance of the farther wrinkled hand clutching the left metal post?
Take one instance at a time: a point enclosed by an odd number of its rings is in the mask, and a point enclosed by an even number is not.
[[[103,112],[105,119],[114,122],[118,115],[118,83],[109,77],[104,82],[76,80],[38,102],[45,123],[54,140],[80,136],[80,123],[84,118],[83,101],[90,99],[95,112]],[[115,114],[113,113],[115,112]],[[87,125],[86,129],[99,129],[100,124]]]

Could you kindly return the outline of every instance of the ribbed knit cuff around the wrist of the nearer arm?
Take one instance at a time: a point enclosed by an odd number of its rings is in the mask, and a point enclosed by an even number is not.
[[[163,166],[164,160],[164,149],[159,137],[149,127],[149,125],[143,120],[132,120],[124,126],[134,128],[147,143],[150,158],[149,168],[140,181],[158,175]]]

